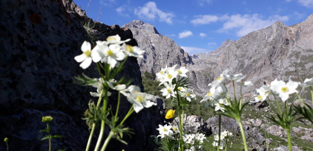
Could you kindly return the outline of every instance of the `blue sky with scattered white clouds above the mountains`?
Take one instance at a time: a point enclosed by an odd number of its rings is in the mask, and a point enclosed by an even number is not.
[[[280,20],[302,22],[313,0],[74,0],[89,17],[123,26],[142,20],[189,54],[209,52]]]

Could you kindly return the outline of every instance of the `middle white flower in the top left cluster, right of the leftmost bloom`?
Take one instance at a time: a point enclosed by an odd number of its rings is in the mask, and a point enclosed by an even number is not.
[[[110,64],[110,68],[114,68],[117,65],[117,60],[121,61],[126,56],[125,53],[120,49],[119,44],[106,45],[104,42],[97,42],[98,53],[101,56],[101,62]]]

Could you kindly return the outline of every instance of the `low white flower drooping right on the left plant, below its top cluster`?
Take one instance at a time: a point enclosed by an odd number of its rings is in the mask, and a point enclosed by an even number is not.
[[[153,95],[140,92],[140,88],[138,86],[132,85],[121,91],[121,93],[125,95],[127,100],[134,105],[134,111],[136,113],[138,113],[144,107],[149,108],[152,105],[156,105],[156,102],[149,101],[153,98]]]

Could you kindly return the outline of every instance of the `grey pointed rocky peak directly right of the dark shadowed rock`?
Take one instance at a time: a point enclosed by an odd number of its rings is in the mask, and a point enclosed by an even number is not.
[[[145,50],[143,59],[138,59],[141,73],[157,73],[167,66],[193,64],[191,57],[184,52],[172,39],[162,36],[156,28],[140,20],[134,20],[122,26],[130,29],[137,40],[138,46]]]

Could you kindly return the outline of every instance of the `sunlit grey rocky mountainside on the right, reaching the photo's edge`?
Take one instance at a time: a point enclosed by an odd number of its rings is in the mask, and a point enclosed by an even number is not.
[[[256,88],[275,78],[293,80],[313,75],[313,14],[305,21],[286,26],[277,21],[267,28],[227,40],[219,49],[193,56],[190,78],[198,94],[208,91],[208,84],[225,69],[246,75]],[[244,89],[250,92],[254,89]]]

